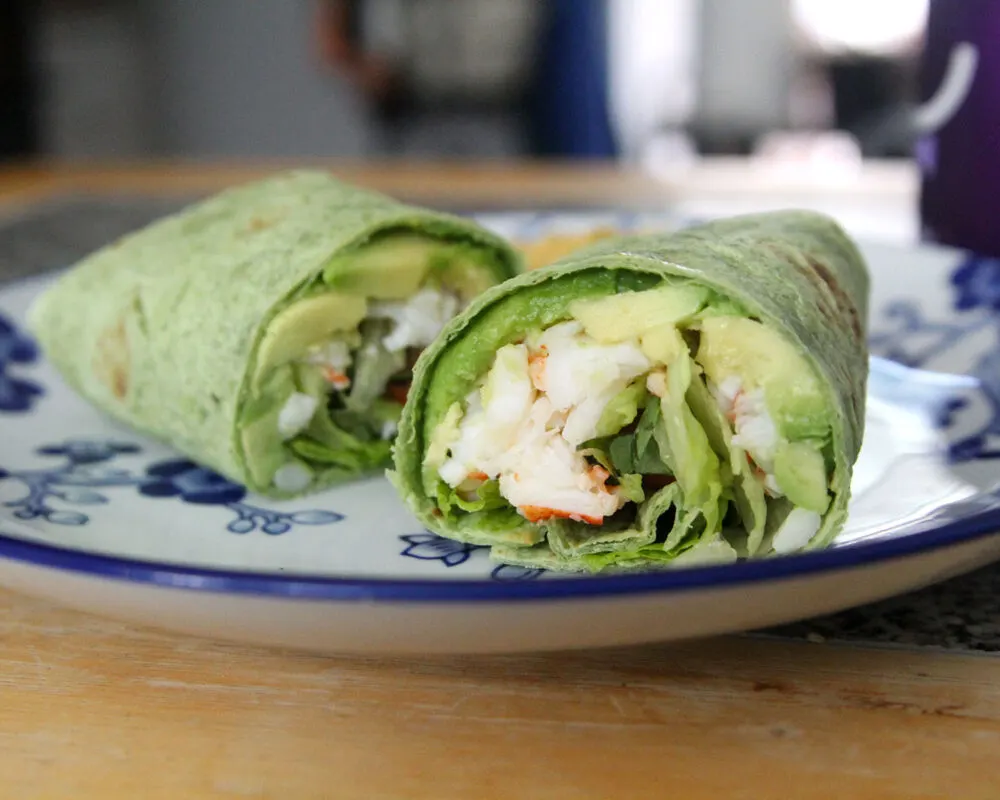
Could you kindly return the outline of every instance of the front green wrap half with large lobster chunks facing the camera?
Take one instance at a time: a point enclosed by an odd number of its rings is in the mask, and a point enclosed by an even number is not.
[[[867,293],[855,246],[808,212],[595,245],[445,327],[390,477],[429,529],[510,564],[823,546],[863,433]]]

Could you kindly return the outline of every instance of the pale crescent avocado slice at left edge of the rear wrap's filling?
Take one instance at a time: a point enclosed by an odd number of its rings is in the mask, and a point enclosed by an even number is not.
[[[338,331],[353,332],[368,311],[363,297],[326,292],[292,303],[268,323],[257,351],[255,384],[274,367],[301,357]]]

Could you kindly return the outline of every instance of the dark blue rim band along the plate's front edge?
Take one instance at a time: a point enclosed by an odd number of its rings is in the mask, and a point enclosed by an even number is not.
[[[1000,534],[1000,509],[992,508],[940,527],[868,544],[736,564],[608,577],[566,577],[498,583],[488,580],[380,580],[283,576],[141,561],[71,550],[13,537],[0,530],[0,558],[167,589],[256,595],[298,600],[467,603],[567,600],[670,593],[791,579],[913,557]]]

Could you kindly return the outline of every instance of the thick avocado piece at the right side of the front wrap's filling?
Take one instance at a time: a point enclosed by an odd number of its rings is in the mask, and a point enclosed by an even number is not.
[[[764,389],[768,410],[789,440],[823,439],[830,413],[810,364],[781,334],[745,317],[701,323],[697,361],[716,384],[737,376],[746,391]]]

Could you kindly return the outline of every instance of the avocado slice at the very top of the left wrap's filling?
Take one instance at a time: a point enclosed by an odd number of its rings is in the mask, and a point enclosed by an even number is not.
[[[442,243],[418,233],[393,233],[334,256],[323,268],[333,289],[377,300],[405,300],[424,282]]]

